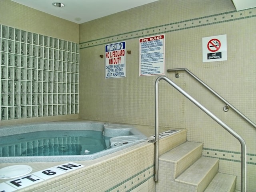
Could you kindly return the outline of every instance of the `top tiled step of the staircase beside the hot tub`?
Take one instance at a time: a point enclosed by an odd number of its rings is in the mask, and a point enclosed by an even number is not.
[[[160,174],[170,168],[168,177],[175,179],[202,156],[202,143],[185,142],[159,157]]]

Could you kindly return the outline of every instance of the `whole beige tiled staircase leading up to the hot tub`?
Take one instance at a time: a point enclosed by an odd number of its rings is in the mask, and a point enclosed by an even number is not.
[[[219,173],[218,158],[202,156],[202,143],[184,142],[179,134],[163,138],[181,143],[159,156],[156,192],[234,192],[236,176]]]

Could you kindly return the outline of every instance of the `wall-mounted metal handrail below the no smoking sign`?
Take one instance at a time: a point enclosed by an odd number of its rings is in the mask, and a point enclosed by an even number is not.
[[[188,74],[190,74],[193,78],[195,78],[198,82],[200,82],[204,87],[206,87],[212,94],[217,96],[220,100],[222,100],[226,105],[228,105],[229,108],[234,110],[238,115],[240,115],[244,120],[246,120],[249,124],[251,124],[254,128],[256,128],[256,124],[252,122],[248,117],[246,117],[244,114],[242,114],[237,108],[235,108],[232,104],[230,104],[227,100],[225,100],[222,96],[220,96],[216,91],[214,91],[212,88],[210,88],[207,84],[205,84],[200,78],[195,76],[190,70],[187,68],[176,68],[176,69],[168,69],[167,72],[177,72],[177,71],[186,71]]]

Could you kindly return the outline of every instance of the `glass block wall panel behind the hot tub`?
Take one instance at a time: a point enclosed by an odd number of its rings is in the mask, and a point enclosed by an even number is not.
[[[78,114],[78,44],[0,25],[0,46],[0,120]]]

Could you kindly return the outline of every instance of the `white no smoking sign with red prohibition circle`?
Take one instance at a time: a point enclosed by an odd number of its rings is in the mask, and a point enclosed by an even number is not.
[[[226,35],[202,38],[203,62],[227,60]]]

